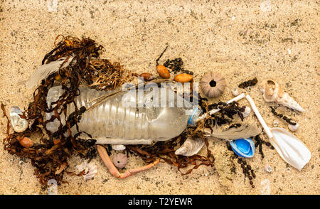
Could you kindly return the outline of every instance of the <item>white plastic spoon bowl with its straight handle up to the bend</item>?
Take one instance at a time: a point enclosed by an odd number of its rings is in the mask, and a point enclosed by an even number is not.
[[[265,120],[262,118],[259,110],[255,106],[250,95],[246,96],[249,101],[253,112],[262,124],[263,129],[265,129],[266,134],[269,137],[270,143],[277,150],[278,154],[286,161],[288,164],[294,166],[299,171],[309,162],[311,159],[311,153],[309,149],[304,145],[297,136],[290,134],[287,130],[282,128],[272,128],[270,129]]]

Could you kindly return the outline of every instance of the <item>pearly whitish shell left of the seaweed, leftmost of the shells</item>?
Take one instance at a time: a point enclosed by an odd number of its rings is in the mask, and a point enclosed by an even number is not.
[[[28,128],[28,121],[20,117],[22,111],[18,106],[12,106],[10,108],[10,121],[15,132],[21,133]]]

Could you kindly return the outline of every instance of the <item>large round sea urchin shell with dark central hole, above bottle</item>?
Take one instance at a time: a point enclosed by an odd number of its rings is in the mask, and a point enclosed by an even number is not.
[[[215,98],[222,95],[225,90],[225,78],[220,73],[212,71],[203,75],[200,86],[207,97]]]

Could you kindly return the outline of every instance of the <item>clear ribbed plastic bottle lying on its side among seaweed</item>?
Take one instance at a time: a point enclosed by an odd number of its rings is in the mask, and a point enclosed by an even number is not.
[[[52,102],[58,100],[63,91],[60,86],[50,88],[47,95],[48,107]],[[198,109],[198,106],[194,107],[173,91],[169,89],[166,91],[166,95],[174,94],[174,100],[169,101],[165,98],[166,107],[150,105],[149,103],[154,100],[154,95],[150,96],[150,92],[147,91],[139,94],[134,90],[130,91],[131,93],[123,92],[114,95],[100,106],[82,114],[82,119],[78,124],[79,130],[91,134],[94,139],[97,137],[117,139],[109,141],[108,144],[150,144],[152,141],[172,139],[181,134],[187,124],[195,124],[198,115],[201,114],[201,109]],[[75,103],[78,108],[82,106],[88,108],[92,105],[92,100],[101,95],[106,95],[106,92],[80,89],[80,95],[75,98]],[[159,94],[156,95],[159,95],[159,100],[164,99],[161,98],[161,88]],[[143,99],[140,100],[141,98]],[[183,107],[177,107],[177,99],[183,100]],[[137,107],[137,101],[142,101],[142,107]],[[74,109],[73,103],[68,104],[67,117]],[[50,119],[52,114],[46,113],[46,119]],[[61,117],[61,119],[64,118],[64,116]],[[62,120],[62,123],[65,124],[65,121]],[[55,119],[47,124],[47,129],[55,132],[58,130],[58,125],[58,119]],[[72,132],[76,133],[75,127]]]

